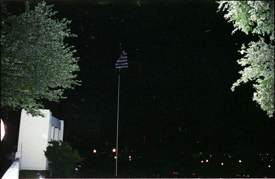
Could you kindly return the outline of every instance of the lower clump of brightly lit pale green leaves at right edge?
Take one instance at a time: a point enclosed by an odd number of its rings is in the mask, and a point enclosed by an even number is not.
[[[246,66],[239,73],[241,74],[231,87],[234,91],[240,83],[255,81],[253,87],[256,92],[253,94],[253,101],[256,101],[262,110],[267,112],[269,117],[274,113],[274,46],[266,44],[263,38],[257,42],[250,42],[248,48],[242,46],[246,55],[237,60],[241,66]]]

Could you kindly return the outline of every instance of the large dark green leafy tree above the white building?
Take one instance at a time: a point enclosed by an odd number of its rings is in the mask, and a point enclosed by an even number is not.
[[[53,17],[52,6],[40,2],[31,10],[25,2],[20,15],[1,15],[1,108],[41,115],[42,99],[57,102],[65,98],[64,89],[80,84],[76,50],[63,43],[76,35],[67,27],[70,21]]]

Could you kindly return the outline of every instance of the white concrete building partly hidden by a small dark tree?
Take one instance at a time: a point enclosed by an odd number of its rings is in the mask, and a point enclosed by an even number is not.
[[[44,156],[48,142],[63,141],[63,121],[51,116],[49,110],[40,110],[44,117],[33,117],[21,112],[18,147],[15,159],[20,159],[20,170],[47,170],[48,162]]]

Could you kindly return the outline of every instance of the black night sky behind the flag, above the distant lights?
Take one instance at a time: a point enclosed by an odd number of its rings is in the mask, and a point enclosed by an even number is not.
[[[119,43],[129,60],[120,73],[120,149],[142,150],[146,136],[146,149],[159,153],[275,151],[274,118],[252,101],[252,83],[230,90],[240,76],[237,50],[257,38],[231,35],[216,2],[47,4],[72,20],[78,37],[66,42],[80,58],[82,85],[45,108],[64,120],[65,139],[83,155],[115,146]]]

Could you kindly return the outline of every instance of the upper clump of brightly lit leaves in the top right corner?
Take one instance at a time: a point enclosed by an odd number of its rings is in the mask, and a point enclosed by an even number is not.
[[[218,11],[226,9],[224,15],[228,22],[232,22],[236,30],[244,33],[252,32],[255,34],[268,34],[271,41],[274,41],[274,1],[272,0],[221,0]],[[223,8],[222,8],[223,7]]]

